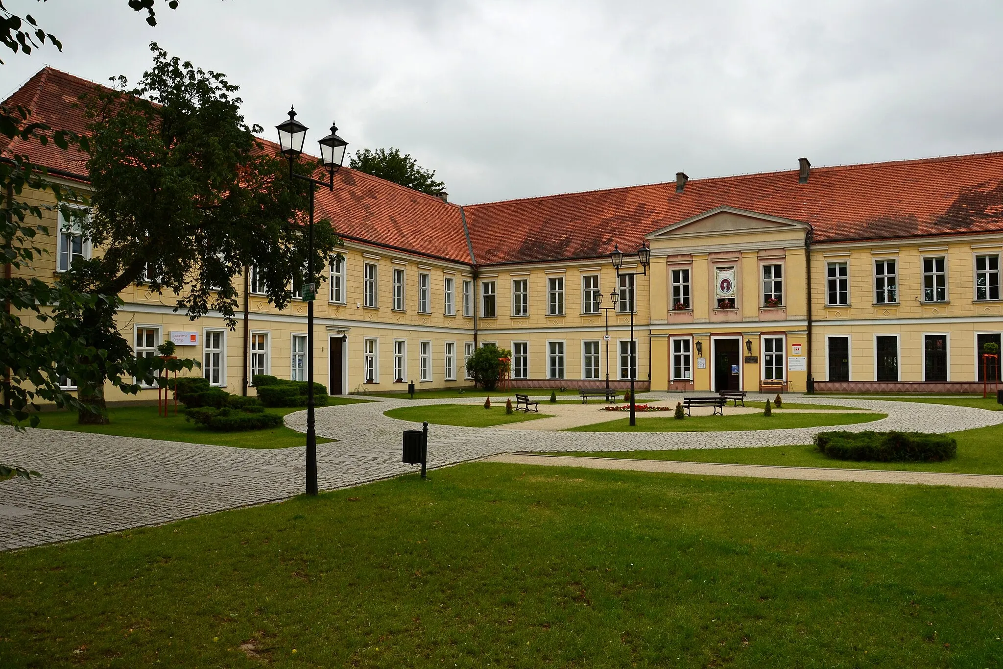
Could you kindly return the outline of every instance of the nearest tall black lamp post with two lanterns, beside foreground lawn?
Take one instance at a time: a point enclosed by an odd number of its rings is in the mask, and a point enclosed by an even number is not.
[[[327,169],[327,181],[316,180],[305,175],[298,175],[293,171],[293,162],[303,152],[303,142],[307,137],[307,126],[296,120],[296,112],[290,108],[289,119],[275,126],[279,131],[279,145],[282,147],[282,154],[289,160],[289,178],[301,179],[310,184],[310,226],[307,243],[307,279],[310,283],[304,283],[303,300],[307,302],[307,494],[317,494],[317,429],[314,418],[314,394],[313,394],[313,303],[317,297],[317,275],[314,271],[314,251],[313,251],[313,219],[314,219],[314,191],[321,186],[328,191],[334,192],[334,173],[341,169],[341,163],[345,159],[345,148],[348,142],[338,136],[338,127],[332,123],[331,133],[323,139],[318,139],[320,144],[320,162]]]

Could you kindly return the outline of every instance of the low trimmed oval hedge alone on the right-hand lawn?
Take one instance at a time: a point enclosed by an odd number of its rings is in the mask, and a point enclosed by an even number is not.
[[[815,447],[841,460],[939,462],[958,454],[958,442],[947,434],[923,432],[818,432]]]

